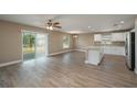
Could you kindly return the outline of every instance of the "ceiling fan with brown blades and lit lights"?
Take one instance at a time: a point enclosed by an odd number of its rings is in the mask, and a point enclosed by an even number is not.
[[[45,25],[48,30],[62,29],[62,26],[60,26],[60,22],[53,22],[53,20],[48,20]]]

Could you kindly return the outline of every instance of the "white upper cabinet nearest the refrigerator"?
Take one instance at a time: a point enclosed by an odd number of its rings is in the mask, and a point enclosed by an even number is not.
[[[126,33],[112,33],[112,42],[125,42]]]

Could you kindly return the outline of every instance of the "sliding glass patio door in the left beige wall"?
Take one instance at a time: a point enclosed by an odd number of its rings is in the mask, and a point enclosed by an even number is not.
[[[23,60],[48,56],[48,34],[23,31],[22,38]]]

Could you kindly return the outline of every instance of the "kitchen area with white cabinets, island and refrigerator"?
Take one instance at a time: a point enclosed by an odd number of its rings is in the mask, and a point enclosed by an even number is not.
[[[135,69],[135,32],[94,34],[93,45],[85,48],[85,64],[99,65],[104,55],[125,56],[129,70]]]

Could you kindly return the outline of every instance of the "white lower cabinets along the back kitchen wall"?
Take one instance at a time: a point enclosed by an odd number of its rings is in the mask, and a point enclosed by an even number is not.
[[[125,47],[120,47],[120,46],[104,46],[104,54],[125,56]]]

